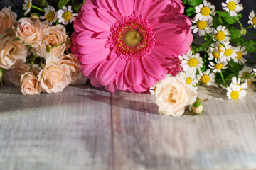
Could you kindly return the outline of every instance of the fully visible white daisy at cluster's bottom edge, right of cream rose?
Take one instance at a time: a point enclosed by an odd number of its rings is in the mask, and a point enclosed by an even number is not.
[[[217,84],[215,84],[216,76],[213,72],[210,72],[210,69],[207,69],[205,72],[199,72],[196,77],[202,84],[206,84],[207,86],[217,86]]]

